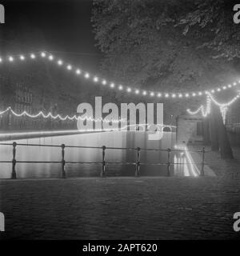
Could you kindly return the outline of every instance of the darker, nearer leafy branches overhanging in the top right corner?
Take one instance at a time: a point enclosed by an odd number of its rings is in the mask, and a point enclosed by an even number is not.
[[[185,26],[183,34],[198,34],[205,42],[198,47],[214,50],[214,58],[229,60],[240,57],[240,31],[234,24],[234,0],[197,0],[194,10],[182,15],[178,26]]]

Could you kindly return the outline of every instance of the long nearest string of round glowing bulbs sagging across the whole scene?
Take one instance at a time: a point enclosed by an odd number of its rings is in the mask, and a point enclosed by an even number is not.
[[[40,56],[42,58],[48,58],[50,61],[54,61],[54,56],[52,54],[47,54],[46,52],[41,52]],[[35,59],[37,58],[36,54],[30,54],[30,58],[31,59]],[[21,61],[24,61],[26,59],[26,56],[24,55],[18,55],[18,57],[14,57],[14,56],[8,56],[8,58],[6,58],[7,61],[9,62],[14,62],[15,59],[20,59]],[[0,58],[0,63],[3,62],[3,58]],[[58,66],[62,66],[64,64],[64,62],[62,61],[62,59],[58,59],[57,60],[57,64]],[[84,78],[89,79],[92,77],[93,82],[95,83],[102,83],[103,86],[110,86],[110,88],[117,88],[118,90],[126,90],[127,93],[134,93],[134,94],[142,94],[144,96],[149,95],[150,97],[158,97],[158,98],[190,98],[190,97],[196,97],[196,96],[202,96],[202,95],[206,95],[206,94],[214,94],[216,92],[221,92],[222,90],[227,90],[230,89],[234,86],[237,86],[238,84],[240,84],[240,80],[238,82],[234,82],[233,84],[229,84],[227,86],[221,86],[212,90],[206,90],[204,92],[199,91],[199,92],[192,92],[192,93],[160,93],[160,92],[154,92],[154,91],[149,91],[149,90],[139,90],[136,88],[131,88],[129,86],[122,86],[122,85],[118,85],[116,86],[116,84],[114,82],[107,82],[106,79],[100,79],[97,76],[92,76],[90,75],[90,73],[88,72],[83,72],[82,70],[78,69],[78,68],[74,68],[74,66],[67,64],[66,65],[66,70],[74,70],[74,72],[79,75],[79,74],[83,74]]]

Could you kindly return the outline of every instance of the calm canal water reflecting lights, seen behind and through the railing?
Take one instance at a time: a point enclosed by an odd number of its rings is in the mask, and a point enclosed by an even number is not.
[[[131,148],[174,148],[175,133],[166,132],[162,140],[150,141],[144,132],[104,132],[94,134],[75,134],[66,136],[30,138],[17,140],[17,143],[48,144],[66,146],[110,146]],[[9,141],[13,142],[13,141]],[[0,160],[11,160],[12,146],[0,146]],[[17,161],[61,161],[61,148],[41,146],[17,146]],[[66,161],[102,162],[102,150],[66,148]],[[135,150],[110,150],[106,149],[106,162],[136,162]],[[187,162],[185,153],[172,153],[171,162]],[[140,162],[167,162],[167,152],[141,150]],[[11,164],[0,163],[0,178],[10,178]],[[67,177],[92,177],[99,176],[101,164],[66,164]],[[106,174],[109,176],[134,176],[135,166],[110,164],[106,165]],[[18,178],[60,178],[60,163],[17,163]],[[171,175],[190,176],[193,172],[190,166],[176,165],[170,167]],[[140,175],[166,176],[166,166],[141,166]]]

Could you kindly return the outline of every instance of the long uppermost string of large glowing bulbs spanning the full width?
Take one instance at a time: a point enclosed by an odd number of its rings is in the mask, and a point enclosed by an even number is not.
[[[82,75],[84,78],[88,80],[92,80],[94,83],[101,84],[102,86],[107,86],[110,89],[120,90],[120,91],[126,91],[126,93],[129,94],[139,94],[143,96],[150,96],[150,97],[157,97],[157,98],[194,98],[194,97],[200,97],[207,94],[215,94],[230,88],[233,88],[234,86],[237,86],[240,84],[240,80],[238,82],[233,82],[232,84],[229,84],[227,86],[219,86],[218,88],[214,88],[211,90],[205,90],[205,91],[198,91],[198,92],[180,92],[180,93],[170,93],[170,92],[158,92],[154,90],[142,90],[130,86],[123,86],[122,84],[117,84],[116,82],[109,82],[105,78],[98,78],[98,76],[90,74],[89,72],[79,69],[76,66],[71,65],[70,63],[63,62],[61,58],[54,57],[53,54],[50,54],[46,51],[38,52],[37,54],[31,53],[31,54],[13,54],[8,55],[6,58],[0,57],[0,64],[3,62],[15,62],[15,61],[21,61],[24,62],[27,59],[35,60],[40,58],[46,58],[50,62],[56,63],[58,66],[65,66],[66,70],[68,71],[74,71],[76,75]]]

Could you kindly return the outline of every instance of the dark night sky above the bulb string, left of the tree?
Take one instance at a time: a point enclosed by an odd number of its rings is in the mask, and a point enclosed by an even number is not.
[[[7,0],[1,3],[5,6],[6,23],[1,25],[0,32],[1,29],[18,32],[19,23],[24,20],[27,26],[43,35],[43,46],[41,42],[31,42],[27,37],[26,52],[29,49],[49,50],[80,64],[82,68],[98,70],[101,52],[95,46],[90,22],[91,0]],[[2,36],[0,40],[6,38]],[[11,43],[6,42],[8,45]]]

